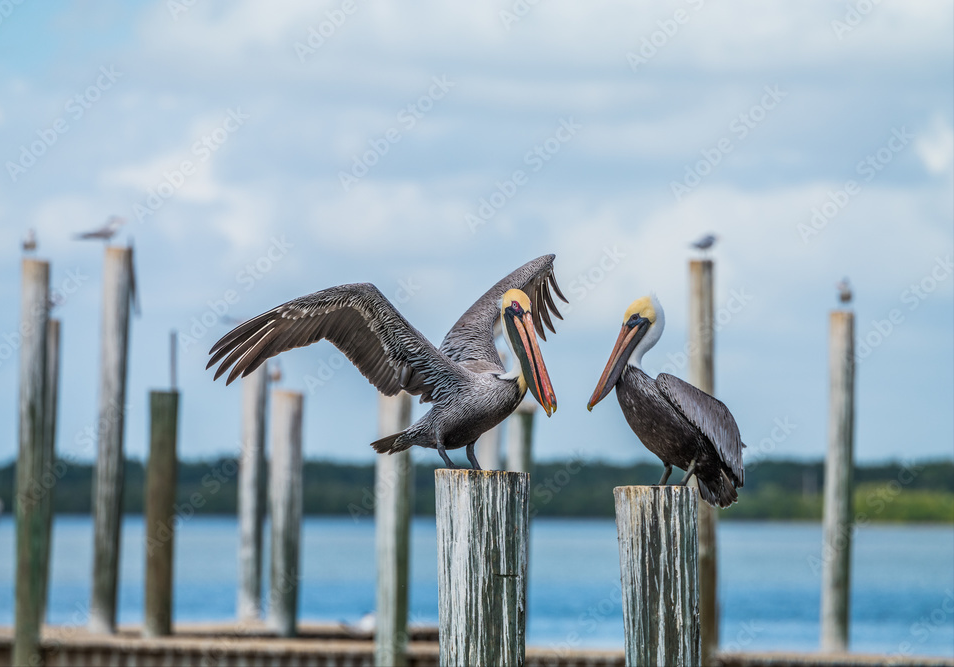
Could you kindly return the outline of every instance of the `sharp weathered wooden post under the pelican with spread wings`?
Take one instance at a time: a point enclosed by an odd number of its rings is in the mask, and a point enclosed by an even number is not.
[[[530,475],[435,471],[442,665],[524,664]]]

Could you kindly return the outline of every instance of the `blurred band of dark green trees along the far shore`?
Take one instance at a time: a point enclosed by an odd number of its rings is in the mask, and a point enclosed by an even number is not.
[[[434,514],[434,465],[415,469],[415,514]],[[90,512],[93,467],[58,462],[54,509]],[[612,517],[614,486],[654,484],[662,466],[619,466],[601,461],[553,461],[534,466],[530,479],[533,516]],[[306,461],[305,514],[374,514],[374,466]],[[682,475],[674,470],[670,482]],[[15,465],[0,467],[0,500],[13,509]],[[183,461],[179,464],[176,502],[180,514],[234,514],[238,463]],[[123,510],[142,512],[144,470],[127,461]],[[740,501],[723,510],[725,519],[818,520],[822,513],[824,466],[820,462],[763,461],[749,465]],[[954,523],[954,461],[904,466],[885,463],[855,469],[854,513],[859,521],[942,521]]]

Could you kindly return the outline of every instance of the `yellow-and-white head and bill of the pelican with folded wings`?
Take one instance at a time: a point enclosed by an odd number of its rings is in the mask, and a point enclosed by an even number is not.
[[[603,375],[586,404],[587,410],[606,398],[610,390],[616,386],[619,376],[623,374],[626,364],[640,368],[643,355],[662,336],[666,318],[662,304],[653,296],[644,296],[636,299],[623,314],[623,328],[616,339],[616,346],[610,355]]]

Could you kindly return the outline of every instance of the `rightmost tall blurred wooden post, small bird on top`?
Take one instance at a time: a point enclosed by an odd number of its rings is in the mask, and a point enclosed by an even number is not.
[[[821,648],[848,649],[852,467],[855,425],[855,316],[831,313],[828,343],[828,456],[822,537]]]

